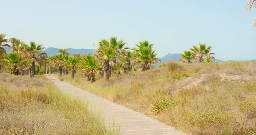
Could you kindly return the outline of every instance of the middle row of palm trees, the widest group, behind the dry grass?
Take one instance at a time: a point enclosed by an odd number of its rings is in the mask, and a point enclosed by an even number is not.
[[[121,70],[130,72],[133,67],[141,67],[146,71],[154,67],[154,63],[160,61],[156,58],[153,44],[148,41],[139,42],[137,48],[125,47],[126,42],[113,36],[109,40],[102,39],[99,48],[94,55],[74,54],[66,49],[59,50],[59,54],[51,58],[53,67],[58,68],[59,76],[62,76],[62,69],[71,71],[71,77],[77,70],[88,77],[89,81],[95,81],[95,74],[100,73],[105,80],[109,80],[113,73],[120,75]]]

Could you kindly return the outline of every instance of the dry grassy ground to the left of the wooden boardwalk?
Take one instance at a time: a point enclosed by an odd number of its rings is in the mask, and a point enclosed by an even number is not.
[[[105,135],[100,116],[72,100],[44,76],[30,79],[0,73],[1,135]]]

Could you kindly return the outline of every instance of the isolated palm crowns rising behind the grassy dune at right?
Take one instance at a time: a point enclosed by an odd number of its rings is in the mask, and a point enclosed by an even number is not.
[[[199,46],[193,45],[192,48],[188,51],[184,51],[183,54],[181,54],[181,57],[183,59],[180,59],[181,62],[207,62],[211,63],[215,58],[212,55],[215,55],[215,53],[210,52],[212,49],[212,46],[207,46],[206,44],[199,43]]]

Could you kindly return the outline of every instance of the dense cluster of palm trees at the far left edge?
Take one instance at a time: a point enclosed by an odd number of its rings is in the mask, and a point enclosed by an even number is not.
[[[4,64],[5,68],[14,75],[28,74],[30,78],[35,76],[36,61],[42,63],[47,58],[46,53],[42,53],[44,47],[30,42],[30,45],[20,39],[5,39],[5,34],[0,34],[0,69]],[[10,47],[11,53],[6,54],[4,47]],[[46,60],[45,60],[46,61]]]

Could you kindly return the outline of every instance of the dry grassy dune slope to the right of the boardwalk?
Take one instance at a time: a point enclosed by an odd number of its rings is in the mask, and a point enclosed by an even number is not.
[[[256,125],[256,62],[173,64],[102,77],[62,77],[84,90],[195,135],[246,134]],[[186,87],[187,85],[191,87]]]

